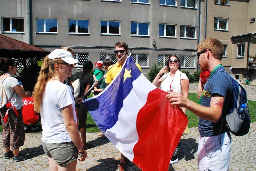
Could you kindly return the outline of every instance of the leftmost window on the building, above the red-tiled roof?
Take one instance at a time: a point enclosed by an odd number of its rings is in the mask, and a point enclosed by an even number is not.
[[[24,32],[24,19],[2,18],[2,32]]]

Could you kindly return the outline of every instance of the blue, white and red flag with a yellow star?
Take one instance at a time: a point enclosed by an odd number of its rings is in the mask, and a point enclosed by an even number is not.
[[[83,103],[99,129],[143,171],[164,171],[188,120],[151,84],[131,56],[108,87]]]

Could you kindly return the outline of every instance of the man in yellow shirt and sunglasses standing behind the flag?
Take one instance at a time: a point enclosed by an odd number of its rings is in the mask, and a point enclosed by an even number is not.
[[[114,50],[115,56],[116,56],[117,60],[119,60],[120,58],[122,58],[122,59],[120,61],[118,61],[116,64],[109,66],[110,70],[107,72],[105,83],[110,84],[111,81],[115,78],[115,76],[119,73],[126,58],[129,56],[129,54],[127,52],[128,52],[128,45],[125,42],[117,42],[115,44],[115,50]],[[136,63],[136,66],[141,71],[141,66],[137,63]],[[126,170],[125,159],[126,159],[126,157],[123,154],[121,154],[119,171]]]

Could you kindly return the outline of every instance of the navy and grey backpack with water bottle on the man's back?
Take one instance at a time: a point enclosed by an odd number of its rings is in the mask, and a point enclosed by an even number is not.
[[[225,72],[226,71],[220,71]],[[229,76],[230,74],[227,73]],[[231,77],[231,76],[230,76]],[[232,78],[232,77],[231,77]],[[251,118],[249,114],[249,107],[247,102],[247,95],[245,89],[232,78],[233,83],[233,99],[231,101],[229,113],[224,118],[226,129],[236,136],[243,136],[249,132]],[[238,116],[237,111],[242,104],[246,105],[245,117],[242,119]]]

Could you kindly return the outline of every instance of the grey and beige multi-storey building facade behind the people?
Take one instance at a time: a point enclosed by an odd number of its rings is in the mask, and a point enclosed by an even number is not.
[[[1,4],[5,4],[0,7],[1,34],[47,51],[72,47],[80,61],[74,72],[85,60],[116,61],[114,44],[124,41],[144,74],[154,62],[166,65],[174,54],[181,69],[192,74],[198,70],[196,46],[214,37],[225,45],[222,62],[227,70],[233,67],[233,74],[242,80],[248,73],[256,79],[247,63],[255,48],[250,46],[247,53],[248,43],[231,39],[256,32],[255,23],[248,23],[255,16],[252,0],[1,0]]]

